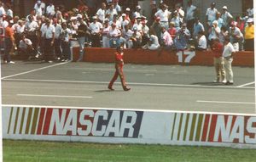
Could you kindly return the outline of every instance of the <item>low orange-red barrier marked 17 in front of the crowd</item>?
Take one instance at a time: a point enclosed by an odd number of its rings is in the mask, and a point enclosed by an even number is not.
[[[88,47],[84,49],[84,61],[93,63],[113,63],[115,49]],[[73,61],[79,59],[79,47],[73,47]],[[125,63],[127,64],[190,64],[212,65],[212,52],[175,52],[175,51],[150,51],[144,49],[125,49]],[[253,52],[238,52],[232,63],[235,66],[254,66]]]

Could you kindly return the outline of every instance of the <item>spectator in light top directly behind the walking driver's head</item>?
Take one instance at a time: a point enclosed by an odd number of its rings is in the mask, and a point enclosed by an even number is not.
[[[109,30],[109,43],[110,47],[115,48],[120,46],[120,36],[121,36],[121,31],[116,27],[115,23],[111,24],[111,28]]]

